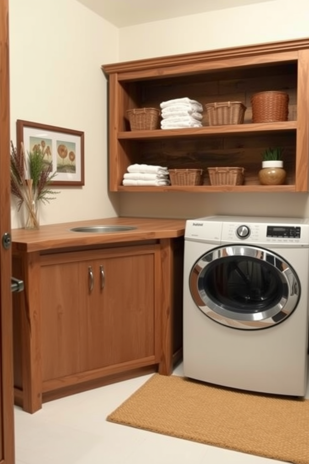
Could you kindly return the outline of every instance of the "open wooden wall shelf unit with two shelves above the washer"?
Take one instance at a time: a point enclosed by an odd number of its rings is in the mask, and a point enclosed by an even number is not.
[[[309,157],[309,39],[102,65],[109,79],[109,189],[135,192],[307,192]],[[265,90],[289,94],[288,121],[252,123],[251,97]],[[203,104],[241,101],[244,124],[130,131],[126,110],[159,108],[189,97]],[[284,148],[285,185],[262,186],[267,147]],[[202,186],[123,186],[133,163],[202,168]],[[211,186],[208,167],[245,168],[242,186]]]

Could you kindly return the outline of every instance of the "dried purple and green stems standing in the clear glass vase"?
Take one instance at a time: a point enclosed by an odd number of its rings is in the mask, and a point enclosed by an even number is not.
[[[36,216],[36,203],[41,200],[49,203],[59,193],[50,189],[50,182],[57,174],[51,172],[52,166],[44,160],[44,153],[40,146],[36,146],[25,157],[24,145],[21,143],[20,151],[11,141],[11,192],[17,197],[18,211],[22,204],[31,216],[34,226],[38,226]]]

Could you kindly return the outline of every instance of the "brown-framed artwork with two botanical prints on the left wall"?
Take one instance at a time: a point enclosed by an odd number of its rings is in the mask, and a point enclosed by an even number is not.
[[[16,129],[17,149],[23,142],[27,155],[39,146],[51,172],[57,173],[51,185],[85,185],[83,132],[20,119]]]

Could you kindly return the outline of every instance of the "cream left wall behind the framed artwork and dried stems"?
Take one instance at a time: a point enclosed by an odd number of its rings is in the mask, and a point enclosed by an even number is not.
[[[118,60],[119,30],[76,0],[10,0],[11,138],[16,120],[85,133],[85,186],[55,187],[41,224],[117,215],[107,189],[107,80]],[[12,227],[23,226],[12,207]]]

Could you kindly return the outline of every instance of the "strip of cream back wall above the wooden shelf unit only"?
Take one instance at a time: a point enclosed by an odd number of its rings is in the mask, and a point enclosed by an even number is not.
[[[215,0],[213,0],[215,2]],[[309,36],[307,0],[271,0],[120,29],[120,61]]]

